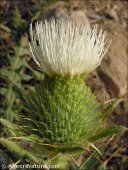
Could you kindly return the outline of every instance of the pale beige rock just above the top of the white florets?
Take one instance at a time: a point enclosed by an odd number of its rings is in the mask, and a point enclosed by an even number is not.
[[[72,11],[71,19],[78,24],[90,25],[86,13],[83,10]]]

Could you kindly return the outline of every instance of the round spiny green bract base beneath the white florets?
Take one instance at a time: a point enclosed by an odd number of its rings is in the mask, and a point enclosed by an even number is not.
[[[24,105],[29,132],[51,144],[86,143],[102,127],[99,104],[80,76],[45,77]]]

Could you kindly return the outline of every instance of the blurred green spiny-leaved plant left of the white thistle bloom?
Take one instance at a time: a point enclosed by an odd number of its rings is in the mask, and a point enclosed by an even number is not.
[[[30,81],[33,77],[40,77],[39,72],[33,69],[27,63],[29,56],[28,45],[25,43],[26,36],[22,36],[17,45],[13,45],[13,53],[9,51],[6,56],[6,65],[3,65],[0,71],[1,82],[0,95],[2,98],[2,107],[0,114],[10,122],[18,119],[18,112],[21,109],[20,96],[17,93],[17,88],[22,88],[22,82]],[[26,69],[31,71],[31,74],[26,74]]]

